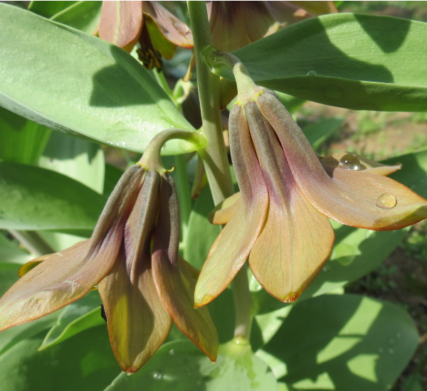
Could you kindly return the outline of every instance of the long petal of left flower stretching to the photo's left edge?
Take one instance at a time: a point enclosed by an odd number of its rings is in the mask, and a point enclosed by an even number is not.
[[[56,311],[93,289],[110,272],[144,170],[130,167],[107,200],[90,240],[50,255],[0,299],[0,331]]]

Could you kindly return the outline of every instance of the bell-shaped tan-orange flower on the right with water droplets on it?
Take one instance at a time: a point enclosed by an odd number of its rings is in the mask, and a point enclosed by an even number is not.
[[[294,301],[330,255],[334,231],[328,218],[396,230],[427,217],[427,200],[386,177],[399,164],[354,154],[319,159],[275,96],[253,82],[250,93],[241,91],[229,119],[241,192],[211,213],[213,223],[226,227],[199,275],[196,306],[218,296],[247,258],[266,291]]]

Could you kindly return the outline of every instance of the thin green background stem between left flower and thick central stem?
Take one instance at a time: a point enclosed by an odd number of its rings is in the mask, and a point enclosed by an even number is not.
[[[175,156],[176,167],[176,189],[178,191],[179,209],[181,212],[181,223],[183,225],[182,240],[186,238],[191,213],[191,193],[189,186],[189,175],[187,173],[186,159],[184,155]]]

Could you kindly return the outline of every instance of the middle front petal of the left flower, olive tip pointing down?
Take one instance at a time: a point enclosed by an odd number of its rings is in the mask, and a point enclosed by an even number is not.
[[[115,266],[98,284],[112,349],[125,372],[136,372],[167,338],[172,319],[154,286],[150,241],[156,219],[159,174],[147,171],[127,220]]]

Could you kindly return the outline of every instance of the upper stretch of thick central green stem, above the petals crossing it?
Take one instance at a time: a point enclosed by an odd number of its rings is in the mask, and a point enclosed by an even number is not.
[[[203,133],[208,141],[201,157],[204,159],[209,186],[217,205],[234,193],[219,109],[219,77],[211,73],[201,54],[212,44],[206,4],[204,1],[188,1],[188,6],[196,54]]]

